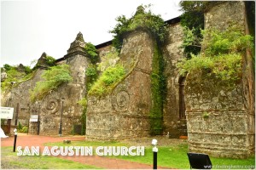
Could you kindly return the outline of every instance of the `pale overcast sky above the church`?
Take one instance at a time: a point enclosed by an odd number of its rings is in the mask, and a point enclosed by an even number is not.
[[[79,31],[94,45],[112,40],[115,19],[149,3],[164,20],[182,14],[179,0],[1,0],[1,66],[31,65],[44,52],[59,59]]]

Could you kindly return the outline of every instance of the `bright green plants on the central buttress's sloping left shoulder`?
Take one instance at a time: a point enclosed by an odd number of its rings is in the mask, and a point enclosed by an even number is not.
[[[125,76],[125,68],[123,65],[110,66],[102,76],[97,79],[94,85],[90,88],[89,95],[104,96],[109,94],[116,83],[122,80]]]

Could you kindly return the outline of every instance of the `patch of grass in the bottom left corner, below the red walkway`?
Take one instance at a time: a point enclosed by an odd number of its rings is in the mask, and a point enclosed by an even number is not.
[[[1,147],[1,169],[96,169],[55,156],[17,156],[13,147]]]

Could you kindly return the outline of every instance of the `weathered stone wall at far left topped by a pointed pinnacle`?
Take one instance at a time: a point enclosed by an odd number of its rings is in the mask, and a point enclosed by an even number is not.
[[[84,97],[85,93],[85,70],[90,63],[90,59],[84,53],[84,39],[81,33],[71,44],[68,54],[64,56],[57,64],[70,65],[73,81],[62,84],[61,87],[49,93],[44,99],[32,103],[30,101],[30,90],[36,83],[43,81],[41,75],[47,68],[39,68],[32,79],[14,85],[9,93],[1,95],[1,105],[6,107],[14,107],[14,118],[11,121],[13,132],[15,128],[15,120],[17,117],[17,125],[19,122],[22,126],[29,125],[29,132],[32,134],[56,135],[59,133],[61,113],[62,113],[62,134],[71,134],[73,126],[81,124],[82,108],[78,101]],[[46,57],[44,53],[40,59]],[[44,63],[43,63],[44,64]],[[41,65],[41,64],[40,64]],[[63,105],[62,101],[63,100]],[[17,114],[18,113],[18,114]],[[39,122],[29,122],[31,115],[38,115]]]

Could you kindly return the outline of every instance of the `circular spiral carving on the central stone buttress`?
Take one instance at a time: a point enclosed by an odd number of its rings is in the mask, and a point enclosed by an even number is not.
[[[112,98],[112,105],[115,111],[127,111],[130,104],[129,94],[122,90]]]

